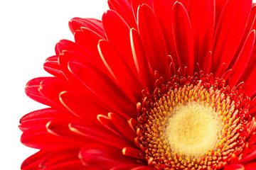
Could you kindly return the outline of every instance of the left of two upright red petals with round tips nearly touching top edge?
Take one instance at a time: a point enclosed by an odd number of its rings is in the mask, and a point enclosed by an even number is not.
[[[169,63],[164,35],[151,8],[143,4],[138,10],[138,27],[152,71],[169,80]]]

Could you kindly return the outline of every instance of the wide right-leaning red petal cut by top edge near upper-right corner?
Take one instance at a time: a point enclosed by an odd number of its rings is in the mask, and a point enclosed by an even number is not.
[[[211,69],[215,73],[215,77],[220,77],[223,74],[218,69],[215,70],[215,66],[225,63],[226,69],[233,60],[242,40],[251,7],[251,0],[232,0],[228,1],[223,8],[213,39],[213,63]]]

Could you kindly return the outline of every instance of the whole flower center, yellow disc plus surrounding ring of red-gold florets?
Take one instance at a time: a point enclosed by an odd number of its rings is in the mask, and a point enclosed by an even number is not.
[[[221,169],[246,147],[250,98],[224,79],[172,77],[164,84],[160,77],[154,93],[143,96],[135,142],[149,166]]]

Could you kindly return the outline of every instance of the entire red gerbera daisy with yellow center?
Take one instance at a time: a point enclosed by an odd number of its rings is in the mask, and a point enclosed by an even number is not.
[[[255,169],[251,0],[109,0],[26,94],[21,169]]]

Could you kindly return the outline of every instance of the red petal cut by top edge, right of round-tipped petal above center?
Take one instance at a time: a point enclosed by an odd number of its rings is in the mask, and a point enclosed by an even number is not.
[[[195,63],[203,67],[213,41],[215,21],[214,0],[188,1],[188,16],[191,21]]]

